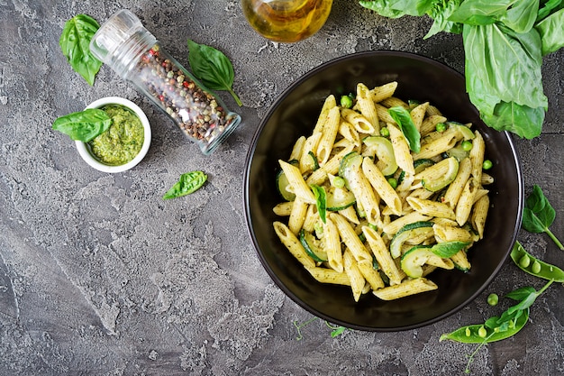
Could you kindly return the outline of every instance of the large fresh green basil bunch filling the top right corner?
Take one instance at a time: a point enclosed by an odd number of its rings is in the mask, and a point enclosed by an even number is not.
[[[564,1],[359,0],[379,15],[432,18],[428,38],[462,32],[466,90],[487,126],[532,139],[542,131],[548,100],[541,65],[564,47]]]

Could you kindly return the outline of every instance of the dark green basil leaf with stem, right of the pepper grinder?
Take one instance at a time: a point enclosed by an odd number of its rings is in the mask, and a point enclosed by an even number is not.
[[[196,78],[212,90],[227,90],[237,102],[241,99],[232,90],[235,73],[231,61],[214,47],[188,40],[188,61]]]

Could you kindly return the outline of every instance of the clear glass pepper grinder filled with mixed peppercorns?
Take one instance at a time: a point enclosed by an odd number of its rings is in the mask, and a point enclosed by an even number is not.
[[[160,47],[132,12],[113,14],[90,41],[90,50],[166,112],[178,127],[209,155],[241,116],[203,86]]]

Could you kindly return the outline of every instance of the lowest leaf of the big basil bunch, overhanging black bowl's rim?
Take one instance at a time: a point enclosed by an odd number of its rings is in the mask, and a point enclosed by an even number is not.
[[[527,139],[541,134],[544,115],[545,111],[542,107],[531,108],[514,102],[498,103],[491,115],[480,112],[487,126],[498,131],[512,132]]]

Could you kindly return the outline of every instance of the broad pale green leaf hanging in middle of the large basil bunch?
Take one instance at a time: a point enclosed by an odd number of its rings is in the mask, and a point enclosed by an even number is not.
[[[536,29],[515,33],[500,24],[464,25],[467,83],[473,96],[497,97],[531,108],[548,106],[541,76],[541,36]],[[497,103],[496,102],[496,103]]]

